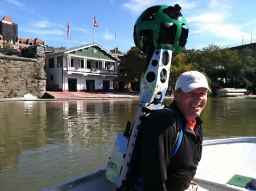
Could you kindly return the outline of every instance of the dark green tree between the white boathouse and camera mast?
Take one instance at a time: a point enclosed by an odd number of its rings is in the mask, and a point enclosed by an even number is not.
[[[141,81],[141,75],[146,71],[146,55],[136,47],[131,47],[125,55],[126,67],[124,73],[137,81]]]

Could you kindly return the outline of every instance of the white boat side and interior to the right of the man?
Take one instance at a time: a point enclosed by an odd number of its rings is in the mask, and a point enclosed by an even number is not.
[[[235,175],[256,178],[256,138],[205,140],[195,182],[208,190],[247,190],[228,184]]]

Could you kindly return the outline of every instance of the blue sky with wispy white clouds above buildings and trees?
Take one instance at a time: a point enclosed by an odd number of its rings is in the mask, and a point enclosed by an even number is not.
[[[209,44],[220,47],[256,42],[255,0],[1,0],[0,19],[8,15],[18,24],[21,38],[47,40],[53,47],[69,47],[93,43],[93,13],[95,42],[107,49],[117,47],[129,51],[134,46],[133,27],[138,16],[153,5],[178,3],[189,27],[187,49],[202,49]]]

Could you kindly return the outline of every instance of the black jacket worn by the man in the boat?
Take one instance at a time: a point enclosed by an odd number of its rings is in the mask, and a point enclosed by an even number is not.
[[[154,111],[147,117],[141,133],[142,190],[185,190],[195,176],[201,159],[203,132],[196,118],[195,133],[189,128],[175,101],[170,105],[183,123],[183,139],[173,159],[170,157],[177,128],[170,111]]]

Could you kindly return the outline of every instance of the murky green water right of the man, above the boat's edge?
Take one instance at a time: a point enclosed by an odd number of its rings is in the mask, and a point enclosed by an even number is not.
[[[201,114],[205,139],[256,135],[256,99],[210,98]]]

